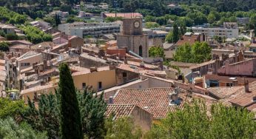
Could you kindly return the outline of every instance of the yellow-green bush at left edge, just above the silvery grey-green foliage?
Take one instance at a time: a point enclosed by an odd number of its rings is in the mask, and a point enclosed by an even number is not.
[[[26,107],[23,101],[10,101],[7,98],[0,98],[0,118],[18,118]]]

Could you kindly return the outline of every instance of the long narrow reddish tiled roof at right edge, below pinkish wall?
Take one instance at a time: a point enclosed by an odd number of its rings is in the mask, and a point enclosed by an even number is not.
[[[256,78],[243,78],[243,77],[234,77],[234,76],[223,76],[223,75],[204,75],[206,80],[216,80],[224,83],[232,83],[233,79],[238,80],[238,84],[243,84],[244,80],[248,80],[249,83],[256,81]]]

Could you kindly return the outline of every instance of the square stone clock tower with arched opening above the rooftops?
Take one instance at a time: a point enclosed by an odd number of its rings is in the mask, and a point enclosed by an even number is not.
[[[149,37],[143,33],[142,18],[123,18],[123,30],[117,36],[118,48],[132,51],[143,58],[148,57]]]

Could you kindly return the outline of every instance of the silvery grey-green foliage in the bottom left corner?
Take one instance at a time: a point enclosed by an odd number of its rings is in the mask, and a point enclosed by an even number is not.
[[[27,123],[18,125],[13,118],[0,118],[0,138],[2,139],[47,139],[45,132],[36,132]]]

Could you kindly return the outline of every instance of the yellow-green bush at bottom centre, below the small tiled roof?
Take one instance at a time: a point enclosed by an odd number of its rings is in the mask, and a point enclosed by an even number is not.
[[[107,135],[105,139],[139,139],[142,137],[142,131],[133,124],[130,117],[118,118],[112,121],[112,118],[106,121]]]

